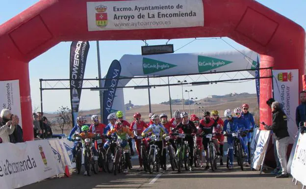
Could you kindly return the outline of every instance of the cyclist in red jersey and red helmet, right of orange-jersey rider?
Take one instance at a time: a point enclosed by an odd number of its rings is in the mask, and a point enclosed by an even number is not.
[[[140,136],[146,128],[148,128],[148,126],[144,121],[141,120],[141,114],[139,112],[135,113],[134,121],[131,123],[129,129],[134,132],[134,135]],[[147,140],[143,140],[143,142],[145,146],[147,147],[148,146]],[[140,165],[138,171],[143,170],[142,159],[141,159],[141,154],[140,154],[140,144],[141,144],[141,139],[135,139],[135,146],[136,146],[136,150],[138,153],[138,160],[139,160],[139,165]]]

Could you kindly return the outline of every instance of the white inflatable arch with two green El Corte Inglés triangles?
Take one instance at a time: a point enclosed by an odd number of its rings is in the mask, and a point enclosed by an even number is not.
[[[242,55],[242,54],[245,55]],[[134,76],[168,76],[178,74],[207,73],[215,71],[255,69],[257,53],[245,50],[241,53],[188,53],[188,54],[125,54],[119,60],[121,78]],[[255,71],[250,71],[255,77]],[[118,86],[125,86],[130,79],[120,80]],[[123,90],[116,91],[113,109],[124,110]]]

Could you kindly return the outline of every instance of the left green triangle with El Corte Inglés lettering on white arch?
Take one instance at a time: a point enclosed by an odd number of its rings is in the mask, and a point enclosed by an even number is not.
[[[177,65],[169,64],[166,62],[154,60],[151,58],[142,58],[142,70],[144,74],[151,74],[154,72],[160,72],[169,68],[176,67]]]

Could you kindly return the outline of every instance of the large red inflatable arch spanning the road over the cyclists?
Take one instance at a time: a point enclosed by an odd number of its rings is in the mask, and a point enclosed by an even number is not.
[[[226,36],[259,53],[261,67],[304,74],[305,30],[255,0],[203,0],[204,27],[90,32],[86,1],[40,0],[0,26],[0,80],[20,82],[25,140],[33,140],[28,62],[61,41]],[[299,83],[302,90],[301,78]],[[271,112],[265,101],[271,89],[271,79],[260,80],[260,119],[267,124]]]

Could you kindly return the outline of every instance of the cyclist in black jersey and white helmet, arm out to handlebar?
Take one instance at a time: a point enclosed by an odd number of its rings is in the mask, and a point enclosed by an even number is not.
[[[189,152],[193,152],[193,136],[196,135],[197,133],[197,128],[194,125],[194,123],[192,121],[190,121],[188,119],[188,113],[187,112],[182,112],[180,114],[180,118],[181,118],[181,122],[180,124],[178,124],[178,126],[172,130],[172,132],[175,132],[179,129],[181,129],[184,134],[189,134],[186,135],[184,140],[188,141],[188,145],[189,145]],[[189,170],[192,171],[192,164],[193,164],[193,153],[189,153],[190,157],[189,157]]]

